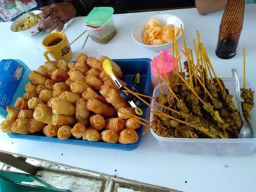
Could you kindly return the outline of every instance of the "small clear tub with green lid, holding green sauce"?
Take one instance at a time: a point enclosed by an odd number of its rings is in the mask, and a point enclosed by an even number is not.
[[[85,18],[85,27],[93,41],[105,44],[115,36],[113,12],[112,7],[95,7]]]

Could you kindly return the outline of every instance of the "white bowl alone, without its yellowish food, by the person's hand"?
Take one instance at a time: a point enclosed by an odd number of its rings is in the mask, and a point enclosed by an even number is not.
[[[29,13],[25,13],[25,14],[21,15],[20,17],[15,19],[15,21],[13,21],[13,23],[11,24],[11,31],[13,31],[13,33],[17,33],[17,34],[20,34],[20,35],[23,35],[23,36],[29,37],[29,38],[37,37],[37,35],[39,35],[43,31],[43,29],[39,28],[39,25],[43,21],[43,19],[39,23],[35,24],[33,27],[23,30],[23,31],[16,31],[16,26],[19,25],[19,23],[24,22],[30,13],[38,15],[41,12],[42,11],[40,11],[40,10],[35,10],[35,11],[30,11]]]

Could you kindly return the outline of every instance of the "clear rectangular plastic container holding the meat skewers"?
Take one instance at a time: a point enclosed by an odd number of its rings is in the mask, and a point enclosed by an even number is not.
[[[240,81],[240,85],[243,85],[243,81]],[[229,93],[233,94],[234,88],[232,79],[223,78],[223,82],[225,83],[227,89],[229,89]],[[165,93],[168,93],[167,86],[164,83],[162,83],[162,85]],[[250,87],[248,83],[247,87]],[[160,91],[160,86],[157,85],[153,91],[153,97],[158,97]],[[233,99],[233,101],[235,100]],[[161,107],[155,105],[154,100],[151,101],[151,105],[157,109],[161,109]],[[251,115],[252,119],[250,122],[253,127],[253,133],[256,133],[256,107],[253,107]],[[150,121],[152,120],[153,113],[150,114]],[[255,138],[251,139],[185,139],[161,137],[157,135],[152,129],[150,131],[153,137],[159,141],[158,144],[160,147],[178,153],[192,153],[197,155],[249,155],[256,148],[256,134],[254,134]]]

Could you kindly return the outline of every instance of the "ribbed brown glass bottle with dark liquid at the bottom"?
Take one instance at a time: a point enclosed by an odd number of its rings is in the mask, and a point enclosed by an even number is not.
[[[245,0],[228,0],[219,26],[219,39],[216,55],[230,59],[237,53],[240,34],[243,28]]]

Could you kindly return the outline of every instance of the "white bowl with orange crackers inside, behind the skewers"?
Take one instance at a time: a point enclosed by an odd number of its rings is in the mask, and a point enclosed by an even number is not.
[[[175,15],[151,15],[136,23],[131,36],[136,43],[149,49],[149,51],[159,52],[171,47],[172,31],[174,31],[176,39],[181,37],[181,25],[184,29],[183,21]],[[157,29],[157,27],[160,29]]]

